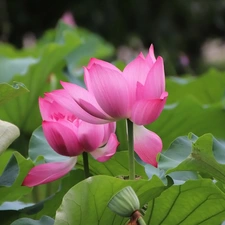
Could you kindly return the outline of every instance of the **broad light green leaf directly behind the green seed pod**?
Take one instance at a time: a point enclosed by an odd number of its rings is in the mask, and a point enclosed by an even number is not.
[[[166,188],[157,177],[150,181],[129,181],[109,176],[90,177],[75,185],[64,196],[56,212],[55,225],[125,224],[127,219],[115,215],[107,208],[107,204],[114,194],[126,186],[134,189],[141,206],[159,196]]]

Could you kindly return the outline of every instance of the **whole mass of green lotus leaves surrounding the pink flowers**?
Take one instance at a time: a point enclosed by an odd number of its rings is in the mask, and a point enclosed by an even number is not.
[[[89,156],[91,177],[84,178],[84,163],[79,156],[68,175],[31,189],[22,185],[31,168],[65,160],[43,135],[38,97],[59,88],[60,79],[82,85],[82,73],[78,72],[81,65],[90,57],[110,56],[113,48],[98,36],[62,23],[56,31],[46,33],[34,49],[1,48],[0,113],[29,141],[28,147],[21,145],[20,139],[0,155],[1,223],[125,224],[128,218],[111,212],[107,204],[127,186],[137,194],[146,224],[219,225],[225,221],[223,72],[210,70],[201,77],[167,78],[165,110],[147,126],[164,142],[157,168],[136,155],[138,177],[126,180],[126,125],[119,121],[121,145],[107,162]],[[16,83],[11,86],[13,81]],[[19,153],[21,148],[23,154]]]

